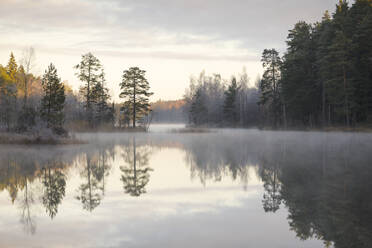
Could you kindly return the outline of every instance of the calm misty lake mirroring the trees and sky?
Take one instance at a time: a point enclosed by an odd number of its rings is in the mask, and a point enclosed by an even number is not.
[[[372,247],[372,135],[215,129],[0,146],[0,247]]]

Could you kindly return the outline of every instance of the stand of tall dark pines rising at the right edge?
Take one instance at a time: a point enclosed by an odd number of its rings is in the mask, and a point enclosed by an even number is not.
[[[372,1],[340,0],[315,24],[289,31],[283,57],[262,55],[263,124],[355,127],[372,121]]]

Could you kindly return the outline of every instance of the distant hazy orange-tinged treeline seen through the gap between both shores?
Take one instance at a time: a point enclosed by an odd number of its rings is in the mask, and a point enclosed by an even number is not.
[[[153,122],[155,123],[185,123],[185,101],[162,101],[158,100],[151,104]]]

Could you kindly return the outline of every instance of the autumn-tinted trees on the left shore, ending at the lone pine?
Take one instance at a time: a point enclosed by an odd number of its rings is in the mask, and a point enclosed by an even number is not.
[[[110,101],[104,68],[93,54],[82,55],[74,66],[82,82],[74,93],[58,76],[53,64],[39,77],[31,73],[35,53],[27,50],[19,65],[11,53],[6,66],[0,65],[0,130],[39,133],[67,130],[129,127],[148,125],[149,83],[145,71],[132,67],[123,72],[120,97],[123,104]]]

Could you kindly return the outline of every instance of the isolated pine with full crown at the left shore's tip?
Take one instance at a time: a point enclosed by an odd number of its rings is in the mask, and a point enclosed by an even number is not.
[[[145,71],[138,67],[131,67],[125,70],[120,84],[120,98],[124,98],[125,106],[130,106],[133,128],[136,127],[136,121],[143,118],[150,112],[149,97],[150,85],[145,78]]]

